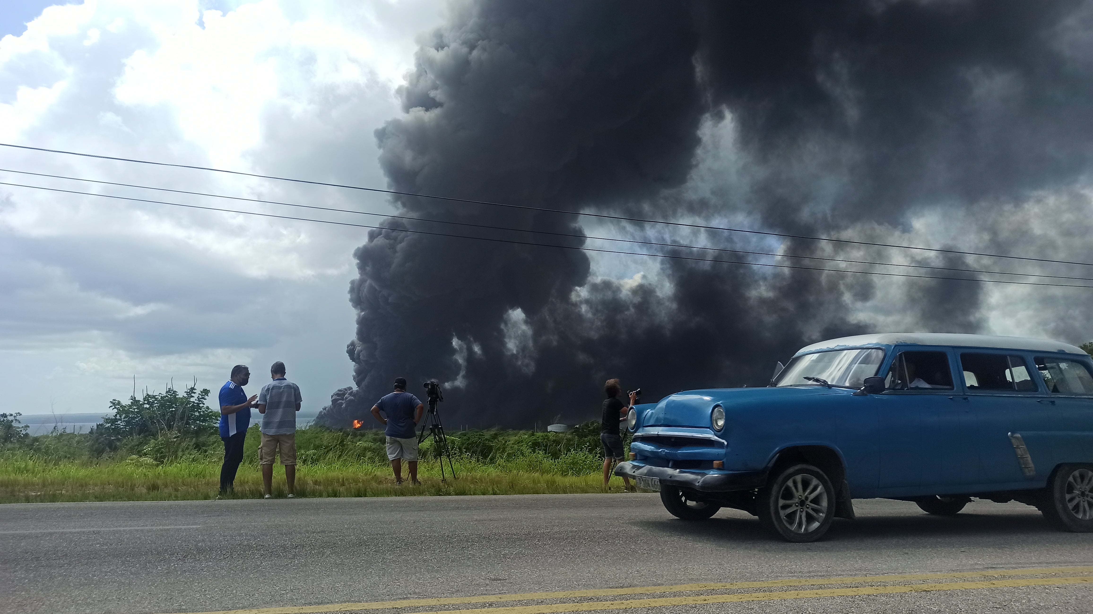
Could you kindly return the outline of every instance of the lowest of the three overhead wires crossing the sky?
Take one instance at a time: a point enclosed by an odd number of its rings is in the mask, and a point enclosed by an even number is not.
[[[616,250],[616,249],[600,249],[600,248],[593,248],[593,247],[578,247],[578,246],[569,246],[569,245],[552,245],[552,244],[521,241],[521,240],[515,240],[515,239],[498,239],[498,238],[492,238],[492,237],[474,237],[474,236],[467,236],[467,235],[453,235],[453,234],[448,234],[448,233],[437,233],[437,232],[431,232],[431,231],[418,231],[418,229],[411,229],[411,228],[392,228],[392,227],[389,227],[389,226],[375,226],[375,225],[368,225],[368,224],[353,224],[351,222],[334,222],[332,220],[316,220],[314,217],[296,217],[296,216],[292,216],[292,215],[277,215],[277,214],[273,214],[273,213],[259,213],[259,212],[256,212],[256,211],[240,211],[240,210],[235,210],[235,209],[221,209],[221,208],[216,208],[216,206],[202,206],[202,205],[197,205],[197,204],[184,204],[184,203],[178,203],[178,202],[166,202],[166,201],[160,201],[160,200],[149,200],[149,199],[141,199],[141,198],[132,198],[132,197],[119,197],[119,196],[114,196],[114,194],[99,194],[99,193],[94,193],[94,192],[81,192],[81,191],[78,191],[78,190],[63,190],[63,189],[60,189],[60,188],[46,188],[46,187],[42,187],[42,186],[26,186],[26,185],[23,185],[23,184],[9,184],[9,182],[4,182],[4,181],[0,181],[0,186],[13,186],[13,187],[19,187],[19,188],[31,188],[31,189],[36,189],[36,190],[48,190],[48,191],[52,191],[52,192],[62,192],[62,193],[70,193],[70,194],[80,194],[80,196],[109,198],[109,199],[116,199],[116,200],[128,200],[128,201],[133,201],[133,202],[148,202],[148,203],[154,203],[154,204],[167,204],[167,205],[172,205],[172,206],[183,206],[183,208],[186,208],[186,209],[200,209],[200,210],[203,210],[203,211],[221,211],[221,212],[224,212],[224,213],[239,213],[239,214],[243,214],[243,215],[258,215],[258,216],[261,216],[261,217],[272,217],[272,219],[277,219],[277,220],[295,220],[295,221],[299,221],[299,222],[316,222],[316,223],[319,223],[319,224],[332,224],[332,225],[337,225],[337,226],[351,226],[351,227],[356,227],[356,228],[375,228],[375,229],[380,229],[380,231],[390,231],[390,232],[398,232],[398,233],[413,233],[413,234],[419,234],[419,235],[430,235],[430,236],[438,236],[438,237],[453,237],[453,238],[461,238],[461,239],[473,239],[473,240],[483,240],[483,241],[491,241],[491,243],[503,243],[503,244],[510,244],[510,245],[528,245],[528,246],[534,246],[534,247],[553,247],[553,248],[557,248],[557,249],[572,249],[572,250],[592,251],[592,252],[601,252],[601,253],[620,253],[620,255],[626,255],[626,256],[646,256],[646,257],[651,257],[651,258],[669,258],[669,259],[673,259],[673,260],[690,260],[690,261],[696,261],[696,262],[720,262],[720,263],[724,263],[724,264],[745,264],[745,265],[749,265],[749,267],[768,267],[768,268],[774,268],[774,269],[797,269],[797,270],[804,270],[804,271],[828,271],[828,272],[838,272],[838,273],[856,273],[856,274],[860,274],[860,275],[882,275],[882,276],[888,276],[888,278],[913,278],[913,279],[922,279],[922,280],[951,280],[951,281],[960,281],[960,282],[996,283],[996,284],[1011,284],[1011,285],[1033,285],[1033,286],[1051,286],[1051,287],[1084,287],[1084,288],[1093,288],[1093,285],[1080,285],[1080,284],[1050,284],[1050,283],[1041,283],[1041,282],[1018,282],[1018,281],[1008,281],[1008,280],[980,280],[980,279],[976,279],[976,278],[942,278],[942,276],[937,276],[937,275],[913,275],[913,274],[909,274],[909,273],[889,273],[889,272],[883,272],[883,271],[854,271],[854,270],[849,270],[849,269],[825,269],[825,268],[820,268],[820,267],[800,267],[800,265],[794,265],[794,264],[774,264],[774,263],[768,263],[768,262],[748,262],[748,261],[741,261],[741,260],[720,260],[720,259],[716,259],[716,258],[697,258],[697,257],[693,257],[693,256],[680,256],[680,255],[672,255],[672,253],[648,253],[648,252],[642,252],[642,251],[622,251],[622,250]]]

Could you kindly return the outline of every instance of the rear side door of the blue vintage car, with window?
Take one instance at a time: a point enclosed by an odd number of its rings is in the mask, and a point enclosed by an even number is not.
[[[977,477],[987,487],[1003,487],[1031,480],[1018,457],[1021,432],[1039,430],[1049,405],[1041,399],[1029,356],[1013,350],[959,351],[964,387],[973,410],[968,441],[977,449]],[[1030,485],[1031,487],[1031,485]]]

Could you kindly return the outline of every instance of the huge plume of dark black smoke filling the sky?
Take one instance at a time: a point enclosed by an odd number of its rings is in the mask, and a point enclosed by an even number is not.
[[[1080,186],[1090,168],[1090,13],[1074,1],[461,2],[418,52],[406,115],[377,131],[380,161],[402,191],[744,216],[801,234],[893,240],[940,212],[968,224],[942,247],[1020,251],[1037,247],[1021,243],[1027,211],[998,212]],[[691,181],[712,126],[729,127],[738,172],[700,194]],[[398,204],[421,217],[584,233],[574,216]],[[780,247],[893,258],[800,239]],[[907,328],[977,332],[987,322],[984,285],[966,282],[679,260],[639,263],[659,281],[620,282],[592,275],[580,251],[392,231],[372,233],[355,258],[348,351],[357,389],[330,423],[365,413],[396,376],[448,382],[449,423],[505,426],[587,417],[610,376],[642,386],[646,400],[762,385],[804,343],[871,330],[855,306],[879,296],[895,297]]]

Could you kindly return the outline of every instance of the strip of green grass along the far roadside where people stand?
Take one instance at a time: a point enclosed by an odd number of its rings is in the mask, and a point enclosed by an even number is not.
[[[252,427],[254,429],[254,427]],[[585,433],[588,430],[588,433]],[[192,500],[216,496],[222,448],[196,442],[185,454],[156,459],[155,441],[131,444],[116,453],[81,451],[79,436],[42,436],[0,451],[0,503]],[[378,432],[307,428],[297,433],[296,496],[385,497],[420,495],[515,495],[603,492],[599,434],[521,430],[455,433],[457,477],[440,481],[431,446],[422,446],[421,486],[395,485]],[[262,494],[258,433],[248,434],[234,498]],[[219,440],[214,440],[216,445]],[[595,451],[593,451],[595,450]],[[146,456],[140,452],[148,452]],[[129,453],[138,452],[138,453]],[[403,468],[403,479],[407,479]],[[273,472],[273,495],[285,494],[284,472]],[[613,491],[622,489],[619,479]]]

